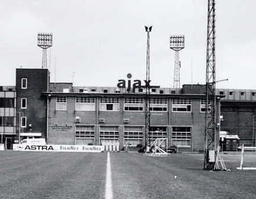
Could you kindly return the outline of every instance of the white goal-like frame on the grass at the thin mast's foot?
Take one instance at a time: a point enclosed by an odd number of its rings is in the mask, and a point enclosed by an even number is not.
[[[167,138],[157,138],[150,147],[147,148],[143,156],[167,156],[167,152],[161,147],[168,146]]]

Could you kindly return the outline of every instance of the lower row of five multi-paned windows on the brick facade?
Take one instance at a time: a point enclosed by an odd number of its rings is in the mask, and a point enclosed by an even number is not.
[[[172,144],[179,147],[191,146],[191,127],[173,126],[171,132]],[[94,126],[76,126],[76,144],[94,142]],[[119,138],[118,126],[100,126],[100,142],[113,142]],[[167,127],[150,127],[148,139],[154,142],[156,138],[167,138]],[[137,146],[143,142],[142,126],[125,126],[123,144]]]

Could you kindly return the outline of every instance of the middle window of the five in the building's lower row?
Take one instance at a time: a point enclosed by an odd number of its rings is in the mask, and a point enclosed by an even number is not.
[[[143,127],[142,126],[125,126],[123,131],[123,142],[125,145],[137,146],[142,144]]]

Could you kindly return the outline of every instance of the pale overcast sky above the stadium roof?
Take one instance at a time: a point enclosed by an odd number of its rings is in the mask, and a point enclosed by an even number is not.
[[[146,78],[144,25],[150,35],[152,85],[173,86],[170,35],[184,34],[180,84],[205,84],[207,0],[0,0],[0,85],[15,85],[15,69],[41,68],[38,32],[52,32],[51,81],[115,86]],[[217,88],[256,89],[256,1],[216,0]],[[51,54],[51,59],[50,55]],[[56,57],[56,59],[55,59]],[[56,61],[55,61],[56,60]],[[193,70],[192,70],[193,68]],[[74,74],[74,78],[72,78]]]

